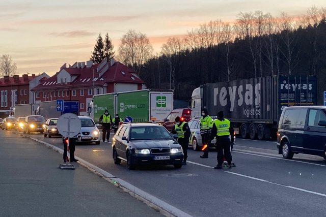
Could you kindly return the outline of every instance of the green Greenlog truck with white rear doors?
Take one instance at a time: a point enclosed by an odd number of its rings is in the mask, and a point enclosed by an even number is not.
[[[163,122],[173,110],[173,90],[142,89],[95,95],[88,108],[90,117],[99,123],[105,110],[127,122]]]

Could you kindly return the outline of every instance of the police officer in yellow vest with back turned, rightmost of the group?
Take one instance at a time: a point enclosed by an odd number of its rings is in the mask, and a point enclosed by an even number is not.
[[[218,150],[218,165],[214,167],[215,169],[222,169],[223,164],[223,154],[228,162],[229,168],[232,168],[232,156],[230,150],[230,135],[231,142],[234,141],[233,138],[233,128],[231,127],[230,120],[224,118],[223,111],[218,113],[218,119],[214,120],[211,139],[216,136],[216,149]]]

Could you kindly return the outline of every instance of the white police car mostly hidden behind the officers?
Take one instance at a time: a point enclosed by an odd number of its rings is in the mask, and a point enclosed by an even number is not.
[[[193,146],[193,149],[196,151],[201,150],[203,146],[203,142],[202,142],[202,137],[200,135],[200,119],[192,119],[188,122],[188,125],[190,131],[192,132],[189,138],[189,145]],[[234,136],[234,142],[235,142],[235,136]],[[216,146],[216,139],[214,138],[210,142],[209,147],[215,147],[215,146]]]

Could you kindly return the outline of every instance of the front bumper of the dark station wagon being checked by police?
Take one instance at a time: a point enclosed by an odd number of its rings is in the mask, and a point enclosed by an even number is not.
[[[154,160],[155,156],[170,156],[169,160]],[[143,154],[132,154],[131,163],[134,165],[174,165],[181,164],[183,160],[183,153],[175,154],[150,154],[144,156]]]

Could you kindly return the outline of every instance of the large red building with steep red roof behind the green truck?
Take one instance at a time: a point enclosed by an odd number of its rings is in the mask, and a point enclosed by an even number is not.
[[[92,61],[64,64],[52,77],[41,80],[33,88],[36,103],[65,100],[79,101],[79,115],[87,115],[93,94],[122,92],[145,88],[144,81],[119,61],[104,59],[100,64]]]

